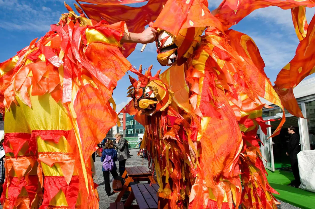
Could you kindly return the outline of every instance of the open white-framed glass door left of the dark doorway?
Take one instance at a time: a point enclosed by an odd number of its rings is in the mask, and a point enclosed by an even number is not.
[[[270,121],[266,122],[267,125],[270,125]],[[260,139],[263,143],[261,145],[261,154],[263,156],[264,165],[267,169],[275,171],[274,159],[273,159],[273,148],[272,148],[272,138],[271,136],[271,127],[267,128],[267,135],[265,135],[260,129]]]

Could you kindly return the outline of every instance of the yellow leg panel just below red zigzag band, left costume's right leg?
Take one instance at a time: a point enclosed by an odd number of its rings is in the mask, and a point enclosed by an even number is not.
[[[60,137],[57,144],[54,141],[42,140],[40,136],[37,136],[36,140],[38,152],[72,152],[64,136]]]

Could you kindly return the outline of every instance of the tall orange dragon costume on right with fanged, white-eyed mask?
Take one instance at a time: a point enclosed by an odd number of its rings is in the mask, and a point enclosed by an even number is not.
[[[269,106],[260,98],[283,108],[281,101],[294,86],[285,85],[279,76],[280,99],[264,72],[255,42],[246,34],[229,30],[255,9],[268,6],[291,9],[295,31],[303,40],[297,50],[300,54],[291,62],[303,65],[302,52],[307,50],[313,31],[312,22],[312,28],[306,30],[305,7],[314,7],[312,0],[225,0],[212,13],[207,1],[169,0],[153,24],[158,31],[157,60],[171,66],[160,78],[173,92],[173,102],[185,112],[185,120],[190,123],[189,130],[185,126],[187,143],[197,156],[187,156],[193,159],[190,169],[194,178],[186,196],[189,208],[237,208],[239,204],[243,208],[277,208],[272,196],[277,192],[267,182],[256,137],[259,126],[264,132],[267,127],[261,116],[262,108]],[[289,76],[286,70],[290,68],[295,74],[300,69],[303,72],[295,84],[314,71],[313,65],[288,65],[282,78]],[[179,77],[184,80],[178,81]],[[272,136],[279,133],[284,121],[283,116]],[[144,125],[154,124],[147,119]],[[151,138],[147,140],[153,143]],[[162,189],[165,185],[160,183]],[[177,197],[176,201],[181,207],[182,199]],[[168,207],[176,208],[174,203]]]

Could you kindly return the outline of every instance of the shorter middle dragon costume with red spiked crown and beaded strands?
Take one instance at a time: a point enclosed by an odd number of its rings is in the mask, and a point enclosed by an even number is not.
[[[145,74],[141,73],[142,66],[139,71],[132,70],[139,80],[129,76],[132,85],[128,97],[132,100],[121,112],[135,113],[135,119],[145,126],[141,148],[149,151],[149,168],[157,173],[158,207],[183,208],[188,206],[192,186],[189,118],[174,103],[173,92],[160,79],[160,70],[152,76],[151,68]]]

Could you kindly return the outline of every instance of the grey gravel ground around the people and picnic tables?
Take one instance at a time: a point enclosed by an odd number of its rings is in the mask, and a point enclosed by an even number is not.
[[[137,150],[133,149],[130,150],[131,159],[128,159],[126,162],[126,166],[147,166],[148,161],[141,159],[139,156],[137,156]],[[95,159],[95,167],[96,167],[96,179],[95,183],[99,184],[99,187],[97,188],[99,192],[100,197],[100,209],[109,209],[109,203],[114,202],[116,200],[116,197],[118,193],[107,196],[105,192],[105,185],[104,185],[104,178],[103,178],[103,172],[102,172],[102,163],[100,162],[100,157],[96,157]],[[118,167],[118,162],[117,162]],[[118,170],[117,173],[119,174]],[[110,175],[110,178],[112,178],[112,175]],[[112,179],[110,180],[112,182]],[[112,184],[111,184],[112,186]],[[112,190],[113,191],[113,190]],[[123,196],[121,201],[125,201],[128,197],[128,192]],[[279,200],[278,200],[279,201]],[[288,203],[285,203],[283,201],[279,201],[281,205],[278,206],[279,209],[299,209],[298,207],[295,207],[293,205],[290,205]],[[0,205],[0,209],[2,209],[2,206]]]

